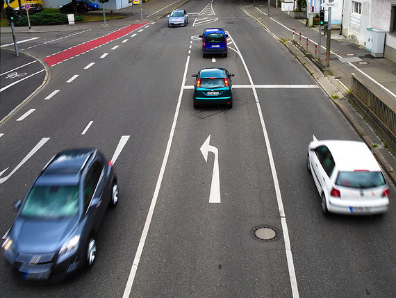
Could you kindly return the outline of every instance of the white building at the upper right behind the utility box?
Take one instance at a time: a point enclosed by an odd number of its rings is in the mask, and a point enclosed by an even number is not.
[[[368,28],[386,31],[383,56],[396,63],[396,0],[345,0],[342,34],[366,46]]]

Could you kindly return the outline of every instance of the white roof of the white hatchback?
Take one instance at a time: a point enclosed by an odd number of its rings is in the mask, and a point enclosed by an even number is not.
[[[339,171],[381,171],[381,167],[372,155],[368,146],[363,142],[345,140],[321,140],[317,146],[325,145],[329,148]]]

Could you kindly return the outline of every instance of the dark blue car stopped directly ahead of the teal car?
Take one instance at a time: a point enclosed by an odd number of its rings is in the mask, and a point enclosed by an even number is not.
[[[209,54],[222,54],[227,56],[228,34],[222,28],[206,28],[199,38],[202,39],[202,56]]]

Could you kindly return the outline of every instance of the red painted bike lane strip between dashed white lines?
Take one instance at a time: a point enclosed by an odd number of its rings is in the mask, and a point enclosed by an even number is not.
[[[132,31],[135,31],[137,28],[145,26],[146,24],[147,23],[133,24],[133,25],[126,26],[125,28],[119,29],[113,33],[104,35],[101,38],[97,38],[95,40],[90,40],[89,42],[85,42],[85,43],[80,44],[76,47],[72,47],[72,48],[62,51],[60,53],[53,54],[52,56],[45,58],[44,61],[49,66],[56,65],[57,63],[65,61],[65,60],[72,58],[76,55],[85,53],[86,51],[90,51],[96,47],[99,47],[102,44],[105,44],[106,42],[111,42],[113,40],[116,40],[117,38],[122,38],[122,36],[127,35],[127,34],[131,33]]]

